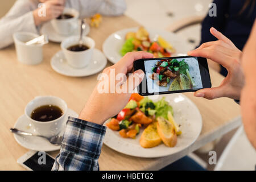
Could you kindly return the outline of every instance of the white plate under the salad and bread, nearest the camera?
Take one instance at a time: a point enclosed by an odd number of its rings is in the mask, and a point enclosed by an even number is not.
[[[150,98],[153,97],[155,96],[150,96]],[[141,147],[139,139],[141,138],[142,130],[136,139],[130,139],[122,138],[118,131],[107,129],[104,144],[126,155],[141,158],[158,158],[183,151],[194,143],[197,137],[199,137],[203,125],[200,111],[196,105],[183,94],[161,95],[157,100],[160,100],[162,97],[166,97],[166,101],[173,107],[175,121],[178,125],[181,125],[182,134],[177,137],[175,147],[170,148],[163,143],[153,148]]]

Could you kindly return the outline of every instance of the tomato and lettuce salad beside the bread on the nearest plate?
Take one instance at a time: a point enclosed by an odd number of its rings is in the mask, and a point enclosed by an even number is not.
[[[173,114],[172,106],[164,100],[153,102],[148,97],[137,93],[131,94],[128,104],[106,126],[118,131],[123,138],[135,138],[142,127],[147,127],[156,118],[168,119],[168,112]]]

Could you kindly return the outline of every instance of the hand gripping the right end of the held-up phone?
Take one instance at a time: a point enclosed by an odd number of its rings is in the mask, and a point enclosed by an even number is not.
[[[228,70],[228,76],[224,78],[220,86],[216,88],[201,89],[195,92],[196,97],[204,97],[209,100],[219,97],[229,97],[240,100],[241,90],[245,83],[242,66],[242,52],[221,32],[210,28],[210,33],[218,40],[202,44],[199,48],[189,51],[188,55],[206,57]]]

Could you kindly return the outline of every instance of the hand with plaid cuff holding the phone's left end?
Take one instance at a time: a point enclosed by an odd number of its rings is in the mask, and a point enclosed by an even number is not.
[[[129,52],[118,63],[105,68],[79,118],[102,125],[107,119],[118,114],[144,77],[141,69],[126,77],[133,70],[133,62],[152,57],[153,55],[148,52]],[[105,92],[102,93],[102,89],[105,89]],[[118,93],[118,90],[122,92]]]

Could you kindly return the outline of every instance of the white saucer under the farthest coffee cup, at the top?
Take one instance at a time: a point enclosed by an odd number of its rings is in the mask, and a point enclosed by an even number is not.
[[[60,35],[58,34],[52,27],[51,22],[44,23],[40,32],[41,34],[48,35],[49,40],[52,42],[60,43],[64,39],[68,38],[69,36],[73,35],[79,35],[79,27],[80,27],[81,21],[79,21],[79,26],[77,26],[77,29],[71,34],[71,35]],[[88,23],[86,23],[86,28],[84,31],[84,36],[88,35],[90,32],[90,26]]]

